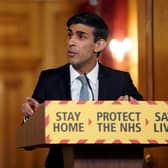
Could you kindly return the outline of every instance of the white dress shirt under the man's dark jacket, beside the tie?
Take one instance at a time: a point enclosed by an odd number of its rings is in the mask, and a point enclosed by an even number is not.
[[[98,100],[98,71],[99,71],[99,64],[96,63],[96,66],[88,73],[87,78],[89,79],[90,86],[93,90],[94,100]],[[80,74],[70,65],[70,79],[71,79],[71,97],[72,100],[79,100],[80,89],[81,89],[81,82],[77,77]],[[88,87],[89,91],[89,100],[93,99],[92,93],[90,88]]]

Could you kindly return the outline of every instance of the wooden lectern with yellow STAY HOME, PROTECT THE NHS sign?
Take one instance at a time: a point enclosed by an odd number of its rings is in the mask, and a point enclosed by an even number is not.
[[[17,129],[17,148],[61,145],[65,168],[142,168],[143,145],[168,142],[154,118],[164,112],[151,106],[143,101],[46,101]]]

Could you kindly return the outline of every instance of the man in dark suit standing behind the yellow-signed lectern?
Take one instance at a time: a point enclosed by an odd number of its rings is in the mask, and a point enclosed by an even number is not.
[[[99,16],[79,13],[68,20],[67,28],[68,64],[41,73],[32,98],[22,106],[25,119],[45,100],[79,100],[79,76],[88,79],[88,100],[142,100],[129,73],[98,62],[108,37],[108,27]],[[61,146],[50,148],[46,167],[54,165],[63,168]]]

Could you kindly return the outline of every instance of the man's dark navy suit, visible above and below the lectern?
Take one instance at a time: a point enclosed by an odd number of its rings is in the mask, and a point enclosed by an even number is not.
[[[142,100],[128,72],[99,64],[98,73],[98,100],[116,100],[122,95]],[[71,100],[69,64],[57,69],[42,71],[32,97],[39,103],[45,100]],[[45,166],[46,168],[64,167],[61,145],[50,147]]]

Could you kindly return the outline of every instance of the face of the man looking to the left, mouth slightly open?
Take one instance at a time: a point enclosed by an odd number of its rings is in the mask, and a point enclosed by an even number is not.
[[[76,69],[93,68],[96,64],[94,28],[83,24],[72,24],[68,28],[68,60]]]

